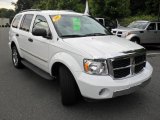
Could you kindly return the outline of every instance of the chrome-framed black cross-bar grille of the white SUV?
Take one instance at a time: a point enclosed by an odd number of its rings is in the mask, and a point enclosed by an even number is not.
[[[133,76],[146,66],[146,52],[133,52],[122,57],[109,59],[109,73],[114,79]]]

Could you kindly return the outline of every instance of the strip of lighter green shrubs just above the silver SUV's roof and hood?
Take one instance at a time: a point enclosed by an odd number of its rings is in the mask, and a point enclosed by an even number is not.
[[[129,23],[136,21],[136,20],[148,20],[148,21],[152,21],[152,20],[156,20],[157,17],[156,16],[152,16],[152,15],[140,15],[140,16],[130,16],[124,19],[120,20],[120,25],[122,26],[127,26],[129,25]]]

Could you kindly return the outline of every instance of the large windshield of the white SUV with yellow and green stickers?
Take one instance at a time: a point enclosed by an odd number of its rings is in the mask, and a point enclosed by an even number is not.
[[[111,35],[100,23],[85,15],[54,15],[51,19],[60,37]]]

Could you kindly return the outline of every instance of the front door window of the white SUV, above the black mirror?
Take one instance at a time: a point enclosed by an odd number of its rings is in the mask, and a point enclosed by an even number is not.
[[[47,31],[48,36],[51,36],[51,32],[45,17],[38,15],[34,21],[33,29],[45,29]]]

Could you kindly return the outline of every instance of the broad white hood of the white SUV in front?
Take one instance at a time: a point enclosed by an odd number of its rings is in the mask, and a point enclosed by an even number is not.
[[[93,58],[111,58],[124,55],[123,52],[142,49],[143,47],[117,36],[95,36],[67,38],[63,41],[71,47],[93,56]]]

